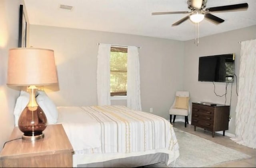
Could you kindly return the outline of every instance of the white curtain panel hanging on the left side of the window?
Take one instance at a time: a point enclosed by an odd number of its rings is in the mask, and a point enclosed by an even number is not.
[[[110,44],[100,44],[97,64],[98,105],[110,105]]]

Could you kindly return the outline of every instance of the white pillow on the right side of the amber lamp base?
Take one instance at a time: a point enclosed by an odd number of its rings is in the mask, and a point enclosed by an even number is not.
[[[44,111],[48,124],[57,123],[58,110],[54,102],[52,102],[44,91],[38,90],[37,94],[36,102]]]

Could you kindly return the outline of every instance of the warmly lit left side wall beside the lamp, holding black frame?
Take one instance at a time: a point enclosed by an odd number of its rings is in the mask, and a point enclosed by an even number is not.
[[[0,0],[0,151],[14,128],[19,91],[6,86],[8,51],[18,46],[20,0]]]

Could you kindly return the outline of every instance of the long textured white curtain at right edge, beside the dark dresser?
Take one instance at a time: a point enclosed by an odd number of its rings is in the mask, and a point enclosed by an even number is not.
[[[241,43],[236,143],[256,148],[256,39]]]

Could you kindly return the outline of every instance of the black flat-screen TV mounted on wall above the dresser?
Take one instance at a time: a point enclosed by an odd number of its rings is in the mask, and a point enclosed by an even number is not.
[[[198,81],[234,82],[235,54],[199,57]]]

